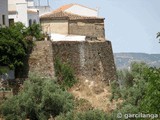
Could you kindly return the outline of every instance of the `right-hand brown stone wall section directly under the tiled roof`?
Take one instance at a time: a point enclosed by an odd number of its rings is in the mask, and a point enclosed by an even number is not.
[[[105,39],[104,20],[69,21],[69,34],[84,35]]]

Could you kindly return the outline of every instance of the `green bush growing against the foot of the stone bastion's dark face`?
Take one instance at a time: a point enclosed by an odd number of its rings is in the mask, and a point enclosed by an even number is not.
[[[76,83],[73,69],[67,63],[62,63],[59,59],[56,59],[54,67],[57,81],[62,88],[70,88]]]

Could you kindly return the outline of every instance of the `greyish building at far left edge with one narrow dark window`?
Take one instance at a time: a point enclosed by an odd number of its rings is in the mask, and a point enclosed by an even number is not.
[[[0,25],[8,26],[8,0],[0,0]]]

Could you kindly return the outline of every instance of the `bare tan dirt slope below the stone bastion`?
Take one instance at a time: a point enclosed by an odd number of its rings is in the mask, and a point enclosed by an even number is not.
[[[70,90],[76,99],[84,99],[88,101],[93,108],[111,112],[116,109],[117,102],[110,101],[111,87],[103,81],[79,81]]]

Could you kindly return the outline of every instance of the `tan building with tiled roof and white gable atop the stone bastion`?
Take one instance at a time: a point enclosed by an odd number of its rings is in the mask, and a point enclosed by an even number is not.
[[[98,17],[97,13],[83,5],[68,4],[41,15],[40,23],[51,40],[104,40],[104,18]]]

